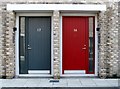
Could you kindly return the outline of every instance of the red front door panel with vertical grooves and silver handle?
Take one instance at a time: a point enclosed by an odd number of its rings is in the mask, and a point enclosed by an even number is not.
[[[63,16],[63,74],[65,70],[88,73],[88,17]]]

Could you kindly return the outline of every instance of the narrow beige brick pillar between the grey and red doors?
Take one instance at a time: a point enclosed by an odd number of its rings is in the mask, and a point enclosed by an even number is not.
[[[60,77],[60,28],[59,11],[53,12],[53,71],[54,78]]]

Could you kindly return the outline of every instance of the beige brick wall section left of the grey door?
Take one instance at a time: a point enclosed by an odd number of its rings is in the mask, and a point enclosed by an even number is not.
[[[0,77],[12,78],[15,72],[13,27],[15,14],[6,11],[6,4],[0,5]]]

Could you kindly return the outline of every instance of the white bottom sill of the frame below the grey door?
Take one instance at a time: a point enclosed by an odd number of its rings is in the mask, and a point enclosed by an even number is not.
[[[53,77],[50,74],[20,74],[18,77]]]

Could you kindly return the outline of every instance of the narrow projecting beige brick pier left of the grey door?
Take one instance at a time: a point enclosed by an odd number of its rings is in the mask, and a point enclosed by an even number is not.
[[[12,11],[7,11],[6,31],[5,31],[5,56],[6,56],[6,77],[11,78],[15,74],[15,55],[13,43],[13,27],[15,27],[15,14]]]

